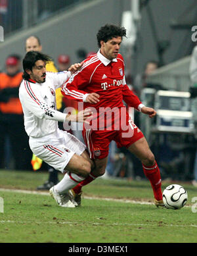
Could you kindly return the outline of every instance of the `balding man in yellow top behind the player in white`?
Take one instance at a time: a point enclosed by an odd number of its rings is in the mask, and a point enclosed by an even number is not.
[[[26,52],[28,51],[42,51],[43,47],[41,41],[37,36],[30,36],[26,39]],[[46,64],[46,70],[50,72],[58,72],[53,61]],[[62,109],[62,93],[60,88],[55,91],[56,94],[56,107],[58,110]],[[41,168],[42,160],[33,155],[32,157],[32,166],[33,169]],[[53,167],[47,165],[49,171],[49,179],[41,186],[37,187],[37,190],[49,190],[55,184],[58,183],[58,171]]]

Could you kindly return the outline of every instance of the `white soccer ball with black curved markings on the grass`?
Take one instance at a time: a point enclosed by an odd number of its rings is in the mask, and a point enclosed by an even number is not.
[[[177,184],[167,186],[163,192],[164,205],[169,209],[181,209],[186,204],[187,198],[185,188]]]

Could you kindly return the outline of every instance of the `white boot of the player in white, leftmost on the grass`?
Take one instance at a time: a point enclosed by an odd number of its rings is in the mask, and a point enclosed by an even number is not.
[[[58,205],[60,205],[61,207],[68,207],[68,208],[75,207],[74,203],[70,201],[70,195],[68,195],[68,193],[57,193],[55,191],[54,186],[50,188],[49,193],[55,199]]]

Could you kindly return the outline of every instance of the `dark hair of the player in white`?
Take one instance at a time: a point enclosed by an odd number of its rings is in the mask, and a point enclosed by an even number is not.
[[[48,55],[40,53],[39,51],[28,51],[28,53],[26,53],[26,56],[22,60],[22,66],[24,69],[22,77],[24,78],[24,80],[28,80],[30,78],[30,75],[26,72],[26,70],[32,70],[33,66],[35,66],[36,61],[45,61],[47,63],[49,61],[52,61],[52,59]]]

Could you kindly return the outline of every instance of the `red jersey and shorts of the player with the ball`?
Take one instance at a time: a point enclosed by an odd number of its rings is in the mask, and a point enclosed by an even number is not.
[[[85,102],[88,93],[93,92],[100,95],[99,103]],[[123,105],[125,101],[129,107],[138,110],[143,106],[125,82],[124,61],[120,54],[112,61],[106,59],[100,51],[91,55],[81,69],[62,86],[62,94],[83,101],[85,108],[91,107],[97,111],[93,112],[90,126],[85,124],[82,132],[91,158],[107,157],[112,140],[116,141],[118,147],[129,147],[143,137],[139,128],[129,120]]]

